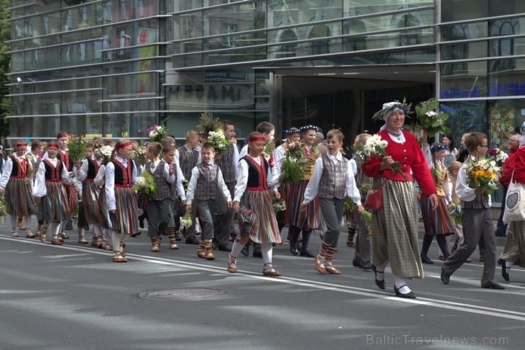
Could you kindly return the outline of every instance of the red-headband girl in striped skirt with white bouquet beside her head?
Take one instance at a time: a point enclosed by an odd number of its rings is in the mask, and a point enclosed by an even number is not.
[[[114,232],[113,261],[126,262],[124,241],[138,232],[137,201],[133,185],[137,183],[138,169],[130,159],[133,145],[128,140],[115,144],[116,156],[106,165],[106,204]]]

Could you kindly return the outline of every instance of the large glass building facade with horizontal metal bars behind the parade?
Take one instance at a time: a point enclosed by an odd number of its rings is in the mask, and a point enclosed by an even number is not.
[[[523,0],[12,0],[11,141],[58,130],[182,139],[211,111],[241,139],[262,120],[381,123],[439,98],[456,144],[506,147],[525,120]],[[20,79],[20,82],[18,81]]]

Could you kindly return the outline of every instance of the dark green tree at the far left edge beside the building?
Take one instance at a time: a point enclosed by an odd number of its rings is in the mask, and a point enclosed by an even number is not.
[[[11,97],[9,86],[11,78],[6,74],[11,72],[11,55],[8,52],[10,45],[6,43],[11,39],[11,24],[6,21],[10,18],[11,13],[7,10],[10,6],[9,0],[0,0],[0,137],[9,135],[9,119],[6,115],[11,115]]]

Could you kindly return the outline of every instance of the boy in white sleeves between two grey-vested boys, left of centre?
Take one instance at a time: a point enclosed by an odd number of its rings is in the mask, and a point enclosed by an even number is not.
[[[176,203],[180,203],[183,208],[185,208],[186,205],[186,193],[184,191],[184,186],[182,185],[182,179],[184,178],[184,176],[182,175],[182,171],[180,170],[179,164],[175,162],[176,152],[177,149],[175,149],[175,147],[171,145],[165,145],[164,147],[162,147],[162,160],[170,167],[170,169],[173,169],[173,175],[175,176],[175,181],[171,186],[169,186],[170,197],[168,198],[168,204],[170,205],[170,218],[167,221],[166,227],[166,235],[168,239],[170,239],[170,249],[179,249],[179,246],[177,246],[177,238],[175,233],[175,215],[173,215],[175,205]],[[176,193],[179,196],[178,199],[176,197]]]

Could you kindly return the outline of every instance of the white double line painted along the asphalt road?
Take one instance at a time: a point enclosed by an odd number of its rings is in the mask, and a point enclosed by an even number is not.
[[[13,237],[4,237],[1,235],[0,235],[0,239],[11,240],[11,241],[16,241],[16,242],[23,242],[27,244],[39,244],[39,245],[42,244],[41,242],[35,241],[34,239],[33,240],[20,239],[20,238],[13,238]],[[91,247],[72,247],[69,245],[56,245],[52,247],[59,248],[59,249],[73,250],[76,252],[84,252],[84,253],[90,252],[92,254],[100,254],[100,255],[105,255],[105,256],[109,256],[112,254],[111,252],[104,252],[104,251],[101,251],[100,249],[91,248]],[[216,267],[216,266],[192,263],[189,261],[177,261],[173,259],[165,259],[165,258],[160,258],[160,257],[157,258],[157,257],[140,255],[140,254],[126,254],[126,257],[134,259],[134,260],[138,260],[138,261],[152,263],[152,264],[160,264],[160,265],[165,265],[165,266],[177,266],[177,267],[182,267],[185,269],[193,269],[193,270],[199,270],[199,271],[209,271],[213,273],[220,273],[225,276],[242,276],[242,277],[259,279],[262,281],[271,281],[275,283],[286,283],[292,286],[309,287],[309,288],[320,289],[320,290],[333,290],[333,291],[340,292],[340,293],[363,295],[363,296],[367,296],[370,298],[379,298],[379,299],[385,299],[385,300],[394,300],[397,302],[408,303],[408,304],[413,304],[413,305],[426,305],[426,306],[438,307],[438,308],[446,309],[446,310],[463,311],[463,312],[469,312],[469,313],[480,314],[480,315],[490,315],[494,317],[501,317],[501,318],[506,318],[506,319],[511,319],[511,320],[525,321],[525,312],[496,309],[496,308],[486,307],[482,305],[455,303],[455,302],[451,302],[447,300],[436,300],[436,299],[421,298],[421,297],[418,297],[417,299],[397,298],[393,296],[391,293],[379,292],[377,290],[370,290],[366,288],[343,286],[343,285],[338,285],[338,284],[333,284],[333,283],[322,283],[322,282],[317,282],[317,281],[309,281],[309,280],[304,280],[301,278],[292,278],[292,277],[286,277],[286,276],[280,276],[278,278],[267,277],[267,276],[260,275],[260,273],[254,273],[251,271],[243,271],[243,270],[238,270],[237,273],[230,273],[226,271],[226,266]],[[518,287],[518,286],[513,286],[513,287]]]

